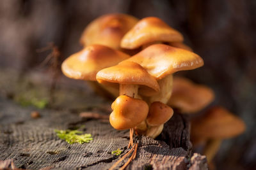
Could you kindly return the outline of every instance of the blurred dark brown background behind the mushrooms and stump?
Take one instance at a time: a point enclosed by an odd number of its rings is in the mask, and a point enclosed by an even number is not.
[[[47,55],[36,49],[49,42],[68,57],[82,48],[84,27],[106,13],[159,17],[184,34],[205,66],[180,74],[214,89],[214,104],[225,106],[247,126],[243,135],[223,142],[217,169],[256,169],[256,1],[2,0],[1,71],[33,70]]]

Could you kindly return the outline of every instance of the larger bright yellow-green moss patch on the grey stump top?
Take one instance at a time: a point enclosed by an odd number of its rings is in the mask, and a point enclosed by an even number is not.
[[[77,131],[77,130],[74,130],[74,131],[54,130],[54,131],[56,132],[57,136],[60,139],[67,141],[67,143],[69,144],[73,144],[73,143],[83,144],[83,143],[89,143],[90,141],[93,140],[91,134],[82,134],[83,132]]]

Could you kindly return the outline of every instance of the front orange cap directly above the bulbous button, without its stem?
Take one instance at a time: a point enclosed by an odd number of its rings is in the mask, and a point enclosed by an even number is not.
[[[116,66],[108,67],[97,73],[97,81],[103,84],[120,83],[126,85],[141,85],[140,88],[159,90],[156,79],[136,62],[126,61]]]

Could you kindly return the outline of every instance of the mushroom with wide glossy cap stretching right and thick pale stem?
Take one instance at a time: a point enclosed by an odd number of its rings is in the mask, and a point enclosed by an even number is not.
[[[161,101],[164,104],[172,95],[173,73],[204,65],[204,60],[196,53],[162,44],[148,46],[124,62],[126,61],[140,64],[159,83],[158,93],[153,94],[147,89],[141,90],[142,96],[150,96],[148,103]]]

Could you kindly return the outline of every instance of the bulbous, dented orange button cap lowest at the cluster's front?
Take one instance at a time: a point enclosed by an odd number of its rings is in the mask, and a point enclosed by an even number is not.
[[[141,99],[119,96],[111,105],[110,124],[118,130],[130,129],[139,125],[148,114],[148,104]]]

